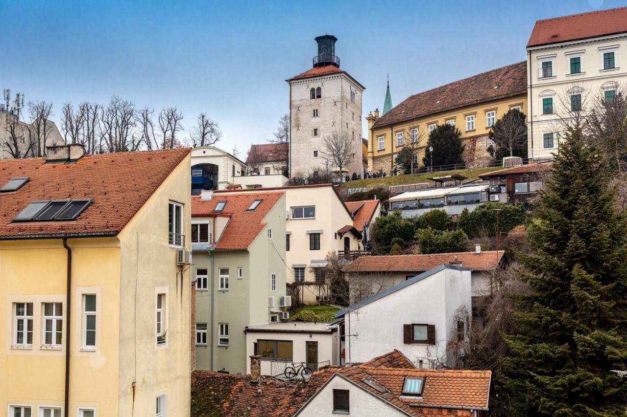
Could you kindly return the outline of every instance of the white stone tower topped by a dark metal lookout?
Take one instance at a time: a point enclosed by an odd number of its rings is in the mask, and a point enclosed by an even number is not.
[[[332,35],[318,36],[318,54],[313,68],[287,82],[290,85],[290,177],[307,177],[319,169],[337,172],[322,158],[325,135],[344,133],[354,150],[354,160],[345,174],[361,175],[362,121],[361,98],[366,89],[346,71],[340,69]]]

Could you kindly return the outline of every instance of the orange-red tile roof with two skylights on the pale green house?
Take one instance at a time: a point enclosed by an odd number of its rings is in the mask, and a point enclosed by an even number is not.
[[[246,249],[263,230],[263,219],[281,198],[283,192],[253,193],[214,193],[211,200],[202,200],[201,196],[192,196],[192,217],[228,216],[228,224],[219,236],[216,249]],[[251,203],[261,200],[255,210],[248,211]],[[213,213],[216,203],[226,201],[224,210]]]

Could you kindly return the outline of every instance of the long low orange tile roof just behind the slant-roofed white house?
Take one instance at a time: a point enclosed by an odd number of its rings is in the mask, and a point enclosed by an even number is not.
[[[475,252],[456,252],[428,255],[381,255],[360,256],[342,270],[344,272],[418,272],[442,264],[450,264],[455,257],[462,267],[473,270],[492,270],[503,259],[502,250],[484,250],[480,255]]]

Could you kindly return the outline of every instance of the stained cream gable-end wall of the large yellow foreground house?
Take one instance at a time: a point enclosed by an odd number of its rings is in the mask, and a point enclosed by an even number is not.
[[[167,415],[189,416],[191,369],[191,279],[181,274],[168,244],[168,202],[181,203],[189,249],[190,157],[187,156],[120,232],[120,406],[118,415],[155,413],[155,398],[167,394]],[[183,187],[183,185],[185,185]],[[157,346],[157,291],[167,292],[167,344]],[[133,383],[136,384],[133,394]]]

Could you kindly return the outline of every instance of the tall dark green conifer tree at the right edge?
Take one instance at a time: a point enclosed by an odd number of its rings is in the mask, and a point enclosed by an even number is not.
[[[624,416],[627,229],[606,163],[569,128],[529,227],[526,294],[510,294],[517,332],[505,336],[502,382],[512,414]]]

